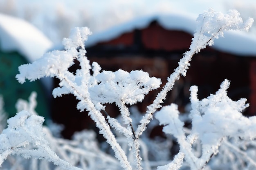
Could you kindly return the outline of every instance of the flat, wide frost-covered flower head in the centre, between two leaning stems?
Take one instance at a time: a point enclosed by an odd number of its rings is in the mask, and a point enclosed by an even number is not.
[[[160,79],[150,78],[149,74],[142,70],[130,73],[124,70],[116,72],[103,70],[96,78],[97,85],[89,89],[95,103],[115,102],[118,104],[121,100],[126,104],[133,105],[137,101],[141,102],[149,91],[159,88],[161,84]]]

